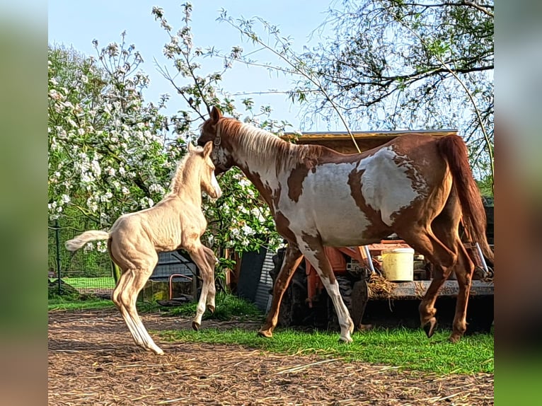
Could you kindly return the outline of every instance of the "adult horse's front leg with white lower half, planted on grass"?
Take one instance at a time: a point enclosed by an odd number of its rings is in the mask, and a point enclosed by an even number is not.
[[[333,273],[333,268],[329,262],[325,250],[321,244],[319,238],[312,238],[310,243],[300,244],[301,252],[305,255],[306,259],[311,262],[311,265],[316,269],[318,276],[320,277],[325,290],[328,292],[328,296],[333,301],[335,307],[335,313],[340,325],[340,341],[352,342],[350,334],[354,331],[354,322],[350,317],[350,312],[345,305],[345,302],[340,296],[339,284]]]

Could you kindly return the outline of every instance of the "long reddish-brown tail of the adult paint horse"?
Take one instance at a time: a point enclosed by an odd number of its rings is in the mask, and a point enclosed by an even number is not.
[[[468,151],[465,141],[459,135],[449,135],[439,139],[439,151],[448,162],[454,187],[456,188],[461,209],[463,226],[468,238],[478,243],[483,255],[492,263],[494,254],[485,236],[486,218],[482,195],[473,178],[468,164]]]

